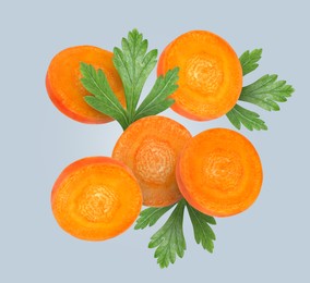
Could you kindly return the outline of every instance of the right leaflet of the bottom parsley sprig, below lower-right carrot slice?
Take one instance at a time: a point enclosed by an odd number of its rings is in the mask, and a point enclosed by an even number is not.
[[[193,225],[194,238],[198,244],[201,244],[204,249],[213,253],[215,234],[208,224],[216,224],[213,217],[206,216],[187,202],[189,216]]]

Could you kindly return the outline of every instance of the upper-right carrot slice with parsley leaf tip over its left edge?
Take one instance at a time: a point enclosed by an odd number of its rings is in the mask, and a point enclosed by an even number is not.
[[[219,36],[206,30],[186,33],[160,54],[157,74],[180,67],[179,88],[171,109],[196,121],[226,114],[236,104],[242,88],[239,59]]]

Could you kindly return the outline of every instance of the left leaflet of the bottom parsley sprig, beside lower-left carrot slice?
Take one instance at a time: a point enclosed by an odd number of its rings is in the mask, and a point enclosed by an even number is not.
[[[150,207],[141,211],[139,219],[136,220],[134,230],[144,229],[146,226],[153,226],[160,217],[163,217],[169,209],[175,205],[169,207]]]

